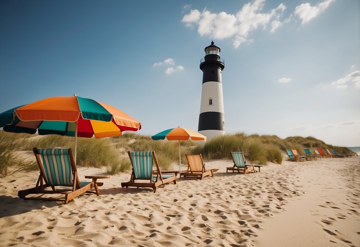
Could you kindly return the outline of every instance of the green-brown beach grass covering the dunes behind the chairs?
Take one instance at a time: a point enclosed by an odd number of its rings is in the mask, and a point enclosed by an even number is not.
[[[35,157],[29,153],[36,148],[72,148],[73,137],[60,135],[30,135],[6,133],[0,131],[0,174],[7,176],[17,171],[36,170]],[[305,155],[304,148],[314,152],[316,148],[335,149],[337,152],[348,152],[346,147],[328,145],[312,136],[291,136],[281,139],[276,135],[258,135],[236,133],[222,135],[203,142],[192,140],[180,141],[181,163],[186,164],[185,154],[202,154],[205,160],[231,159],[231,151],[241,151],[247,163],[263,164],[273,162],[281,164],[287,149],[296,149]],[[19,152],[20,151],[20,152]],[[27,152],[28,157],[21,153]],[[135,133],[123,133],[112,138],[78,138],[77,165],[85,167],[106,167],[108,174],[118,174],[131,169],[127,151],[155,151],[162,170],[171,169],[179,162],[179,142],[152,140],[151,136]],[[31,158],[29,157],[31,156]]]

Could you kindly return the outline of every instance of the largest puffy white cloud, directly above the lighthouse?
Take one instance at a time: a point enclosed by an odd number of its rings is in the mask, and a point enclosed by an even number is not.
[[[206,8],[191,10],[190,14],[184,15],[182,22],[186,26],[198,25],[198,33],[201,36],[209,35],[213,39],[226,39],[234,37],[233,45],[237,48],[244,42],[253,42],[249,39],[249,33],[262,27],[264,30],[271,20],[271,32],[279,28],[284,22],[280,21],[286,8],[284,4],[271,9],[267,13],[261,13],[265,0],[255,0],[245,4],[235,15],[226,12],[211,13]]]

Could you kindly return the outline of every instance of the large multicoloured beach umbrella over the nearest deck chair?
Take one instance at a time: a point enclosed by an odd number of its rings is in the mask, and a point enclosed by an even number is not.
[[[58,96],[15,107],[0,114],[4,131],[103,138],[141,129],[141,123],[111,105],[79,96]]]

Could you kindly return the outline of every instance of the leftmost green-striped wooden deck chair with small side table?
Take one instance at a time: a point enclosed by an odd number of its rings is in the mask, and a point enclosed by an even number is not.
[[[23,199],[34,199],[42,201],[60,201],[68,203],[83,193],[94,193],[99,196],[99,186],[96,180],[100,178],[110,178],[110,176],[85,176],[93,181],[80,182],[74,157],[71,149],[37,149],[33,148],[37,164],[40,169],[40,176],[36,187],[26,190],[20,190],[18,196]],[[46,189],[51,187],[50,189]],[[60,188],[55,187],[71,187]],[[89,191],[94,188],[94,191]],[[62,194],[64,197],[26,197],[29,194]]]

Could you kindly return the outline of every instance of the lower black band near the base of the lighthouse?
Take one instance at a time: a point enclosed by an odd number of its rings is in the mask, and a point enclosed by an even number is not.
[[[224,113],[202,112],[199,115],[198,131],[201,130],[224,130]]]

